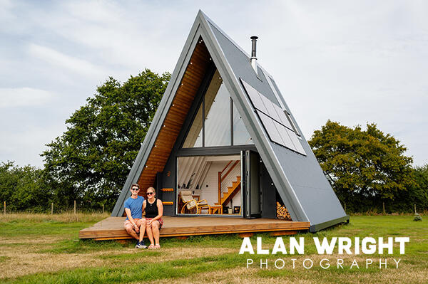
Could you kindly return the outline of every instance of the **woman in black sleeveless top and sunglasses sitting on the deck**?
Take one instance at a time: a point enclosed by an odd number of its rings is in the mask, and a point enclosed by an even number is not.
[[[162,201],[156,198],[156,192],[153,187],[149,187],[146,194],[147,199],[143,201],[143,211],[146,210],[146,233],[150,240],[148,248],[161,248],[159,244],[159,229],[163,225]]]

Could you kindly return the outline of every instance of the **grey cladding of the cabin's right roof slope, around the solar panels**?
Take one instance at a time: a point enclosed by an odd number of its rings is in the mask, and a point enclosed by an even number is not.
[[[258,75],[250,65],[250,59],[242,49],[231,41],[227,36],[223,35],[214,24],[208,21],[213,31],[215,38],[220,44],[226,60],[228,61],[230,68],[235,73],[235,78],[243,78],[245,82],[252,85],[258,92],[262,93],[269,100],[274,102],[276,105],[280,105],[276,99],[275,94],[270,88],[270,84],[266,80],[271,80],[272,85],[275,88],[277,94],[281,97],[280,100],[285,106],[287,112],[290,112],[287,103],[281,95],[275,80],[271,77],[268,79],[265,77],[262,70],[259,68]],[[260,56],[263,57],[263,56]],[[284,116],[280,116],[281,121]],[[297,131],[301,135],[301,131],[294,117],[290,116],[290,120],[295,124]],[[287,123],[287,122],[285,122]],[[286,124],[287,127],[291,125]],[[289,130],[290,131],[290,130]],[[292,186],[292,192],[297,196],[297,202],[300,202],[300,206],[305,212],[305,215],[309,219],[311,226],[315,226],[320,223],[325,223],[332,220],[340,220],[342,217],[347,216],[343,210],[339,199],[335,195],[332,187],[325,178],[320,164],[318,164],[315,155],[312,153],[309,144],[307,144],[305,137],[301,135],[302,140],[296,137],[294,132],[287,132],[290,139],[294,140],[293,145],[296,152],[290,151],[280,144],[276,144],[272,141],[267,141],[275,154],[277,161],[282,167],[282,171],[290,185]],[[306,156],[304,156],[306,154]],[[269,167],[267,168],[270,174],[275,176],[275,171],[272,171]],[[278,181],[278,179],[276,179]],[[282,199],[285,196],[290,196],[287,191],[289,189],[277,186],[277,190],[280,193]],[[292,193],[290,192],[290,194]],[[292,204],[290,204],[292,205]]]

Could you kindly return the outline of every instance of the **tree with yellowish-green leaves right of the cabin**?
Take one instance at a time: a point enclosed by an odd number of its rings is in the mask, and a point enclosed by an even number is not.
[[[330,120],[309,141],[322,169],[333,182],[337,196],[347,207],[382,203],[414,186],[412,158],[392,135],[375,124],[367,130]]]

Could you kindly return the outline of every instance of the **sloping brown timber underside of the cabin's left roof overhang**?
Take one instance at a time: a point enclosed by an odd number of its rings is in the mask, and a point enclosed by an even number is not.
[[[199,39],[175,93],[173,103],[163,121],[163,127],[158,133],[155,146],[151,149],[138,179],[141,195],[146,196],[146,189],[155,184],[156,173],[163,171],[209,64],[210,54],[205,43]]]

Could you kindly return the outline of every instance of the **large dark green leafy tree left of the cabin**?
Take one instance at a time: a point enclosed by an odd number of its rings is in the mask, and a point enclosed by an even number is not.
[[[109,78],[66,120],[41,154],[58,199],[114,206],[169,79],[148,69],[123,84]]]

